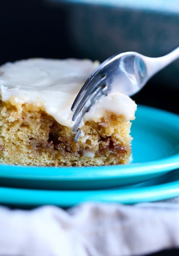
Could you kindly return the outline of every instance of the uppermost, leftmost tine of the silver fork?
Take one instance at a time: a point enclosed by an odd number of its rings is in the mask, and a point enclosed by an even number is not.
[[[99,73],[99,70],[95,70],[90,76],[89,78],[86,80],[86,82],[84,83],[84,85],[82,86],[81,90],[79,91],[78,95],[76,96],[73,104],[72,104],[72,107],[71,107],[71,110],[73,111],[75,109],[75,107],[77,106],[78,102],[80,101],[80,98],[85,94],[86,92],[86,89],[91,85],[94,77],[96,79],[98,79],[100,76],[100,73]]]

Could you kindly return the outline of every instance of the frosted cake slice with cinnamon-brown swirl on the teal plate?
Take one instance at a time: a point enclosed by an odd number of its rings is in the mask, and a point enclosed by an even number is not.
[[[33,166],[126,164],[136,104],[116,93],[83,117],[74,141],[72,103],[98,66],[90,60],[29,59],[0,67],[0,163]]]

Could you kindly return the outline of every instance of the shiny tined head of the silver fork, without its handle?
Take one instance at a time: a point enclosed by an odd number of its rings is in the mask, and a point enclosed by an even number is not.
[[[145,82],[145,73],[144,61],[140,55],[133,52],[113,55],[104,61],[86,80],[73,102],[72,120],[76,121],[73,131],[78,131],[83,115],[101,97],[116,92],[131,96],[134,90],[137,92],[139,90],[138,84]],[[80,132],[76,134],[75,140],[78,140],[79,136]]]

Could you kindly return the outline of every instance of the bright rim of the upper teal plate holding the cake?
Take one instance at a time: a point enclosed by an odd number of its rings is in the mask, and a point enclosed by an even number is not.
[[[149,111],[157,115],[166,115],[172,121],[178,122],[179,115],[158,108],[138,104],[141,111]],[[167,119],[168,119],[167,118]],[[171,120],[170,120],[171,123]],[[176,126],[175,126],[176,127]],[[149,175],[179,168],[179,148],[172,156],[155,161],[131,163],[115,166],[85,166],[85,167],[42,167],[42,166],[8,166],[0,165],[0,177],[31,180],[106,180],[110,178],[134,177],[137,175]],[[73,168],[73,172],[72,172]],[[14,169],[16,171],[14,172]],[[57,173],[60,170],[60,173]],[[120,170],[120,172],[119,172]],[[55,171],[55,172],[54,172]],[[102,175],[101,175],[102,173]]]

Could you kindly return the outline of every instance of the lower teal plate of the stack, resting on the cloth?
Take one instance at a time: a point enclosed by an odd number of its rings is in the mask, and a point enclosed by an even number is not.
[[[82,202],[134,204],[152,202],[179,196],[179,170],[137,185],[119,189],[93,191],[54,191],[0,188],[0,203],[6,205],[70,207]]]

